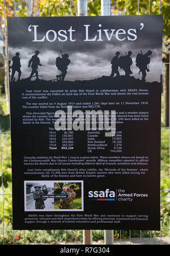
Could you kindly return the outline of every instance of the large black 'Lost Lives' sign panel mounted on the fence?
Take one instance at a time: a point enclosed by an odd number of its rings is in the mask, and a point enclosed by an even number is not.
[[[8,18],[14,229],[160,229],[162,27]]]

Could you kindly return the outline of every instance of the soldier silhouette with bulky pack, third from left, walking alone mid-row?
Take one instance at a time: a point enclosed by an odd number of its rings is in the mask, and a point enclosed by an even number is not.
[[[65,79],[66,73],[67,73],[67,68],[68,65],[70,64],[70,59],[69,55],[67,53],[62,54],[62,57],[57,57],[56,58],[56,67],[58,68],[59,71],[61,71],[60,75],[57,75],[57,81],[63,81]]]

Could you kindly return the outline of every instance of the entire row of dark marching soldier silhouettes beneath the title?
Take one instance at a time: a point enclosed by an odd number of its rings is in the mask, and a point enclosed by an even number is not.
[[[31,59],[28,62],[28,68],[31,67],[32,71],[30,76],[27,78],[28,80],[31,80],[33,76],[36,76],[36,80],[39,80],[39,72],[38,67],[41,65],[40,58],[38,57],[40,51],[35,51],[35,55],[31,57]],[[128,53],[125,53],[124,56],[120,56],[121,52],[116,52],[115,56],[113,57],[111,64],[112,64],[112,72],[111,77],[120,76],[119,68],[123,69],[125,71],[125,76],[129,77],[133,71],[132,71],[132,64],[133,60],[131,59],[132,52],[129,51]],[[20,70],[21,64],[20,64],[20,53],[16,52],[15,56],[12,57],[12,65],[11,61],[9,61],[9,73],[12,73],[10,75],[11,82],[15,81],[15,72],[18,72],[18,80],[20,80],[20,76],[22,74],[22,71]],[[150,64],[150,56],[152,55],[152,51],[147,51],[147,53],[143,54],[141,53],[137,54],[136,57],[136,66],[139,68],[139,74],[142,73],[142,81],[146,81],[146,72],[149,72],[149,64]],[[119,57],[120,56],[120,57]],[[62,54],[61,57],[56,58],[56,67],[60,71],[60,74],[57,75],[57,81],[63,81],[65,79],[65,76],[67,74],[67,68],[70,64],[69,55],[67,53]]]

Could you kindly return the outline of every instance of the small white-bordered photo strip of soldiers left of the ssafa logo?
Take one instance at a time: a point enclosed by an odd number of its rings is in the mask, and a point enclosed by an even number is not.
[[[83,181],[24,181],[25,211],[83,211]]]

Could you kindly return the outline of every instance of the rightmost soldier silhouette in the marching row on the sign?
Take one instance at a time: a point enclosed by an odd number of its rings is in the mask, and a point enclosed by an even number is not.
[[[136,57],[136,66],[139,67],[139,74],[142,72],[142,81],[145,82],[146,71],[149,72],[148,65],[150,64],[150,57],[152,55],[152,51],[147,51],[147,53],[143,54],[138,53]]]

